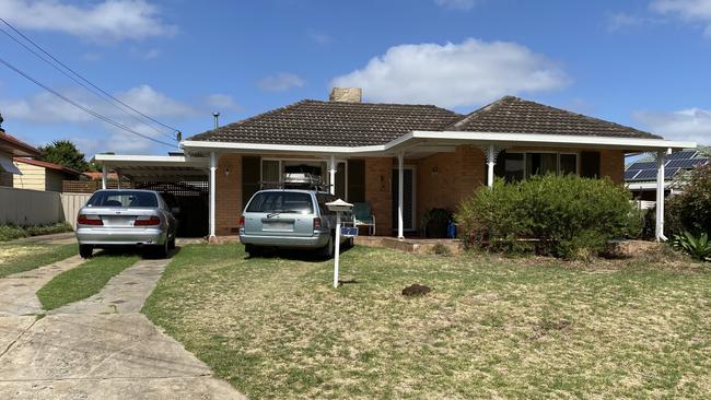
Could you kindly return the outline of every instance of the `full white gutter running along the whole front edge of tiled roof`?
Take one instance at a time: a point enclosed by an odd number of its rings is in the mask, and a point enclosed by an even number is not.
[[[236,143],[186,140],[180,146],[187,151],[242,151],[247,153],[308,153],[308,154],[366,154],[395,153],[404,146],[422,142],[443,142],[457,144],[502,144],[536,146],[593,146],[623,149],[630,151],[695,149],[696,142],[680,142],[664,139],[607,138],[592,136],[568,136],[545,133],[498,133],[458,131],[412,131],[391,142],[361,146],[326,146],[299,144]],[[474,143],[473,143],[474,142]]]

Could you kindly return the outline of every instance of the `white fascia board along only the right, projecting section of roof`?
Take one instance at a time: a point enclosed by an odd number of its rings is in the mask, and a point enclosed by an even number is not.
[[[681,142],[664,139],[608,138],[572,134],[546,133],[499,133],[499,132],[459,132],[459,131],[413,131],[408,133],[412,139],[477,141],[500,144],[536,144],[536,145],[590,145],[596,148],[619,148],[626,150],[681,150],[696,149],[696,142]],[[394,141],[395,142],[395,141]],[[391,142],[391,143],[394,143]],[[388,143],[389,144],[389,143]]]

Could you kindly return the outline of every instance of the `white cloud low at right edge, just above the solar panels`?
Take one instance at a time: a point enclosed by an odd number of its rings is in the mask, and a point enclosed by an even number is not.
[[[688,108],[678,111],[636,111],[632,119],[646,130],[669,140],[711,144],[711,110]]]

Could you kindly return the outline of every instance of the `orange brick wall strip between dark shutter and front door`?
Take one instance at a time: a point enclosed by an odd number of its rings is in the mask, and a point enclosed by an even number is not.
[[[393,234],[393,158],[365,158],[365,200],[375,215],[375,234]]]

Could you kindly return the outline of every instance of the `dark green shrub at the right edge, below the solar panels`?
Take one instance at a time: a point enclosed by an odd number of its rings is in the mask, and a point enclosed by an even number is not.
[[[711,164],[691,169],[681,193],[665,202],[667,236],[690,232],[693,236],[711,230]]]

